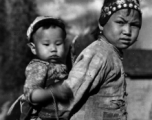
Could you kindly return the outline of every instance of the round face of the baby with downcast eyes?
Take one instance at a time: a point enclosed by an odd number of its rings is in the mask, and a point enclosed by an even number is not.
[[[65,62],[65,43],[61,28],[40,27],[33,35],[36,55],[53,63]]]

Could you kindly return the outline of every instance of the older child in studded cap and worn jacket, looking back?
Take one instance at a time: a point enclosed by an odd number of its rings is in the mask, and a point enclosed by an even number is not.
[[[65,81],[74,93],[69,107],[71,120],[127,119],[122,50],[137,40],[141,24],[138,0],[105,0],[99,19],[98,39],[80,53],[69,79]],[[80,61],[85,64],[93,57],[96,59],[91,60],[90,67],[82,64],[76,69],[75,65]],[[100,71],[95,72],[99,67]],[[83,81],[79,79],[82,69],[88,69]],[[73,76],[75,83],[71,84]]]

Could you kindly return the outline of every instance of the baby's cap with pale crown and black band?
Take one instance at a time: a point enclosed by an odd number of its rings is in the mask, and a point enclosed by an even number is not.
[[[45,25],[55,25],[55,26],[60,27],[63,30],[65,37],[66,37],[65,24],[61,19],[51,17],[51,16],[38,16],[31,23],[31,25],[29,26],[29,28],[27,30],[28,42],[31,42],[33,33],[35,33],[40,27],[45,26]]]

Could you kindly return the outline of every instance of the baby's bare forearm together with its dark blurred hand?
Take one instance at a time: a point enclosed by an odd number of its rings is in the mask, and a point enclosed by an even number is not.
[[[52,96],[53,95],[53,96]],[[31,94],[32,103],[53,102],[53,97],[56,101],[66,104],[73,98],[71,89],[66,84],[57,83],[48,89],[35,89]]]

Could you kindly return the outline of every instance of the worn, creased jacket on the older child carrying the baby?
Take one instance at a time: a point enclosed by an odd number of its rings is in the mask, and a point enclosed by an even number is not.
[[[81,52],[65,83],[74,94],[70,120],[126,120],[122,54],[104,37]]]

